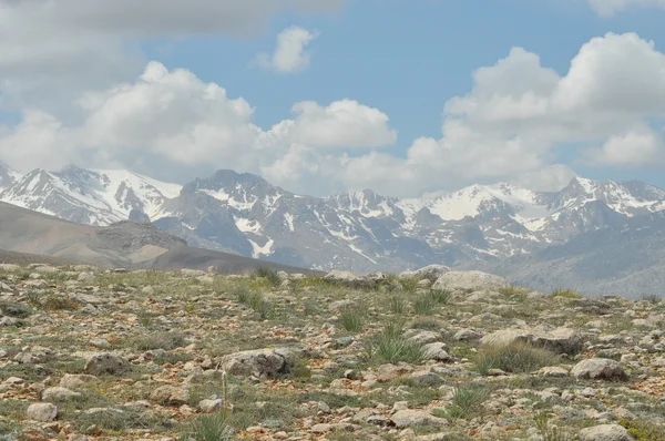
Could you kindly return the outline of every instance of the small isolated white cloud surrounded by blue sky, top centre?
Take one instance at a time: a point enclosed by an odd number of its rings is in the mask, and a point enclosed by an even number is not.
[[[290,27],[277,35],[277,47],[273,55],[259,53],[256,58],[264,69],[275,70],[280,73],[295,73],[309,66],[309,53],[305,49],[318,37],[303,28]]]

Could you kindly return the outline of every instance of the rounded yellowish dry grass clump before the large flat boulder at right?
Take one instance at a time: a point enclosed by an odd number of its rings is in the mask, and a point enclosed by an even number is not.
[[[487,376],[490,369],[515,373],[531,372],[545,366],[554,366],[559,361],[560,357],[550,350],[515,342],[481,348],[475,358],[475,368],[483,376]]]

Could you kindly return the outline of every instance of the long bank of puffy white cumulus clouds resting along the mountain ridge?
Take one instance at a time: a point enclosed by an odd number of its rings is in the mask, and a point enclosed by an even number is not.
[[[416,139],[396,155],[381,150],[397,132],[379,109],[305,101],[293,117],[259,127],[244,99],[152,62],[132,82],[84,95],[76,123],[25,112],[0,132],[0,155],[22,168],[80,160],[172,180],[231,167],[309,194],[369,187],[415,196],[497,181],[557,189],[573,175],[552,165],[566,148],[594,166],[664,164],[664,78],[665,55],[634,33],[592,39],[563,75],[515,48],[446,103],[441,136]]]

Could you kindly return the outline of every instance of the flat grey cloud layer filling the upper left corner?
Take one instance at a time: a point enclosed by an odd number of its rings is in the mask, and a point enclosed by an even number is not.
[[[344,0],[0,0],[1,105],[42,104],[131,80],[142,39],[243,38],[289,10],[335,11]],[[280,60],[288,63],[288,54]],[[54,98],[53,98],[54,96]],[[55,107],[55,106],[53,106]]]

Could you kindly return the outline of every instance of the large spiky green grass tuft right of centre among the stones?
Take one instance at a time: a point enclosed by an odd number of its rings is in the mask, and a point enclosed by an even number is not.
[[[422,349],[409,341],[399,326],[388,326],[383,332],[369,338],[365,345],[368,359],[385,362],[405,361],[408,363],[420,363],[423,360]]]

